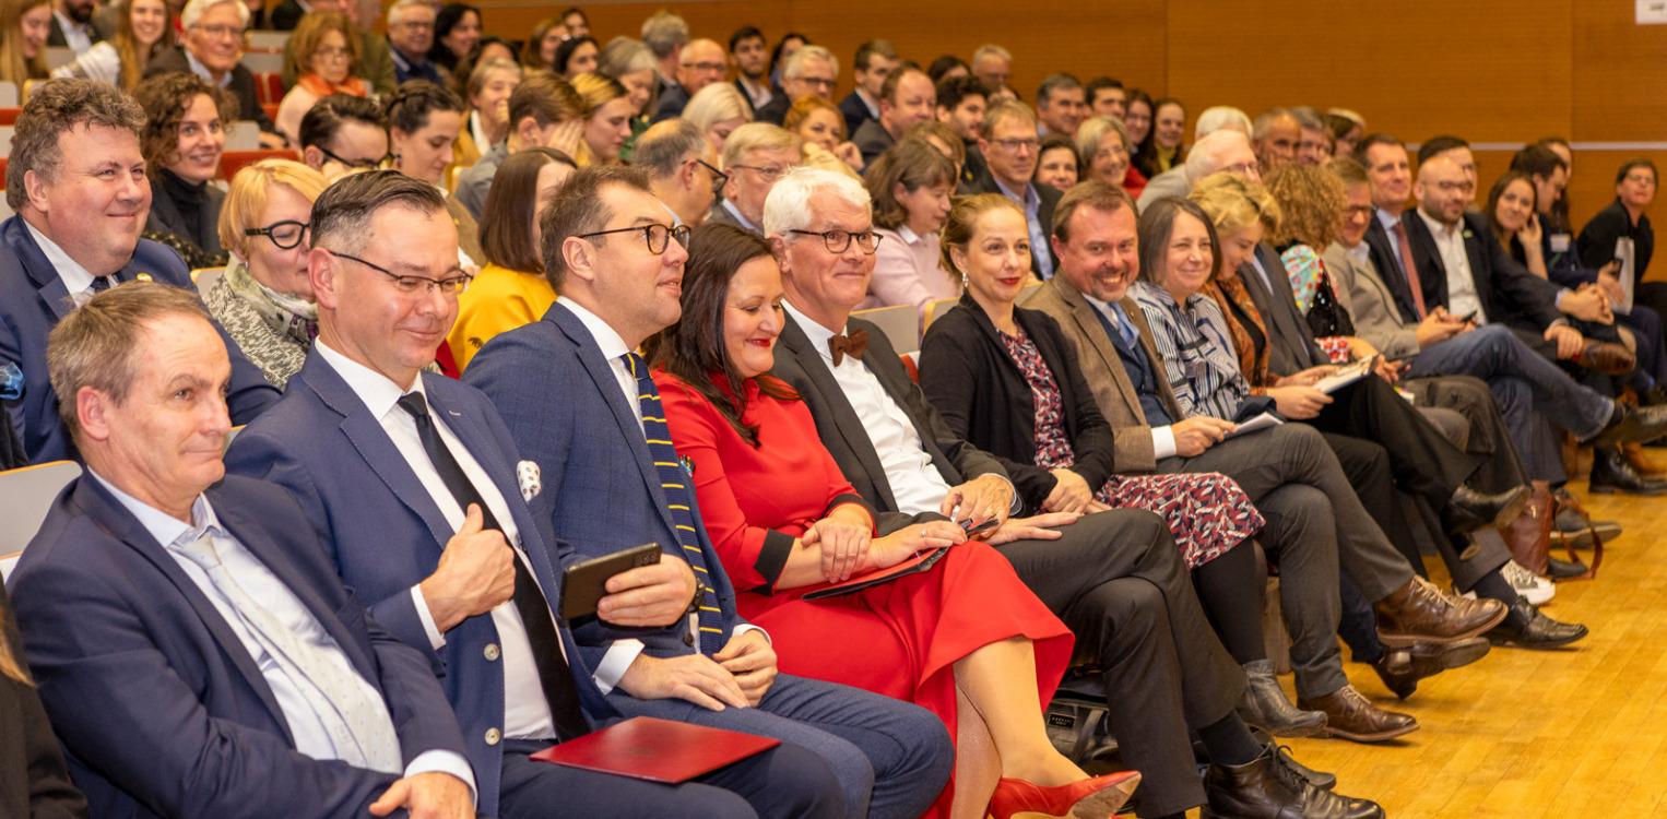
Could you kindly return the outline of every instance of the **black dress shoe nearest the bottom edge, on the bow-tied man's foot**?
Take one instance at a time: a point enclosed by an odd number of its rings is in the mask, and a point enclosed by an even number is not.
[[[1382,819],[1384,809],[1314,787],[1274,746],[1242,766],[1210,766],[1204,774],[1200,819]]]

